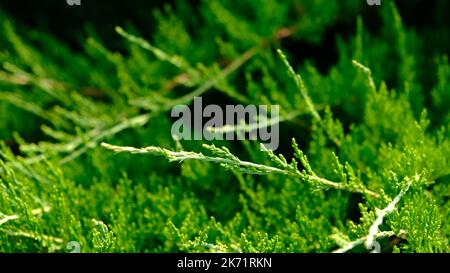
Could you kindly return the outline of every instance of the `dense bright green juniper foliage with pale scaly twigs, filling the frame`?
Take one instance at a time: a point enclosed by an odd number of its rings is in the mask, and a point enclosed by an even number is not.
[[[449,252],[448,26],[263,2],[176,1],[118,51],[0,13],[0,251]],[[280,148],[173,139],[196,96],[280,105]]]

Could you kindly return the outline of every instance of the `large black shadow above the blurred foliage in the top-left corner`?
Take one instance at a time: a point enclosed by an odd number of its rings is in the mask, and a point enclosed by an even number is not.
[[[66,0],[2,0],[0,10],[20,24],[50,32],[73,49],[81,48],[80,39],[88,25],[108,41],[108,46],[120,48],[122,40],[115,33],[115,26],[132,24],[142,35],[150,37],[154,29],[152,11],[171,4],[171,1],[163,0],[80,1],[81,5],[71,6]]]

